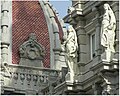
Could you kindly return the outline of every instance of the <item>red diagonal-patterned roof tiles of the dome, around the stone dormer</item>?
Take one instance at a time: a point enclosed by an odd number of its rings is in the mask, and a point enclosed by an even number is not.
[[[53,12],[55,14],[55,12]],[[55,15],[59,28],[59,36],[63,32]],[[51,24],[51,23],[49,23]],[[38,42],[45,47],[44,67],[50,67],[50,34],[43,8],[39,1],[12,1],[12,63],[20,61],[19,47],[28,40],[30,33],[35,33]]]

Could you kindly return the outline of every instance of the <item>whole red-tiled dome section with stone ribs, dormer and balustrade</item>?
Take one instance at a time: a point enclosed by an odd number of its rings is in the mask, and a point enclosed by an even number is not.
[[[52,83],[62,78],[66,66],[60,45],[63,25],[56,11],[41,0],[4,0],[0,8],[1,94],[52,94]]]

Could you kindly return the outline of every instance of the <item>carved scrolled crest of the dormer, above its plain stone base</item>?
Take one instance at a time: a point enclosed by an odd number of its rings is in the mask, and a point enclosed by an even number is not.
[[[42,60],[45,56],[44,47],[37,42],[35,33],[29,35],[28,41],[20,46],[20,57],[31,60]]]

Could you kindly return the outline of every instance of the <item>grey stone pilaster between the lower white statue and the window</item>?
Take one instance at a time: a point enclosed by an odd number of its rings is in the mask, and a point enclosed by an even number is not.
[[[81,16],[79,18],[78,27],[76,28],[78,37],[78,62],[79,64],[85,64],[86,62],[86,33],[84,30],[84,18]]]

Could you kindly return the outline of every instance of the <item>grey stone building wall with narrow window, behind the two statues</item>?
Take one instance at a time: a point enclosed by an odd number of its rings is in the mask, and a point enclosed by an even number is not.
[[[115,53],[111,59],[111,62],[103,62],[102,46],[101,46],[101,23],[103,19],[103,5],[108,3],[116,17],[117,28],[115,31]],[[76,30],[78,38],[78,82],[76,88],[73,90],[81,90],[85,93],[81,94],[103,94],[103,90],[109,90],[104,94],[118,94],[116,90],[118,84],[118,1],[74,1],[73,9],[67,16],[64,17],[66,23],[72,24]],[[70,9],[69,9],[70,10]],[[91,37],[95,34],[95,53],[92,54]],[[105,54],[104,54],[105,56]],[[106,65],[108,64],[108,65]],[[116,66],[116,68],[115,68]],[[110,71],[110,72],[109,72]],[[111,73],[111,71],[113,73]],[[109,75],[108,75],[109,74]],[[111,75],[111,76],[110,76]],[[109,83],[110,88],[108,88]],[[116,81],[116,82],[112,82]],[[104,84],[103,84],[104,81]],[[114,85],[114,87],[112,86]],[[82,88],[81,88],[82,86]],[[97,86],[97,87],[96,87]],[[106,89],[105,89],[106,87]],[[98,88],[98,89],[97,89]],[[107,89],[108,88],[108,89]],[[117,87],[118,88],[118,87]]]

